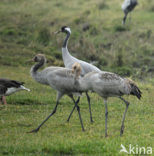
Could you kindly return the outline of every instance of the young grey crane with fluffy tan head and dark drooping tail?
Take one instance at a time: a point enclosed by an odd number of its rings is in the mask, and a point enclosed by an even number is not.
[[[138,99],[141,98],[141,91],[137,85],[130,79],[122,78],[117,74],[110,72],[90,72],[84,77],[78,77],[80,75],[81,67],[80,64],[75,63],[73,65],[73,71],[75,72],[75,84],[78,86],[80,91],[94,91],[104,99],[105,103],[105,136],[107,137],[107,119],[108,119],[108,108],[107,99],[109,97],[119,97],[125,104],[126,109],[123,114],[122,125],[120,135],[124,132],[124,121],[126,112],[129,106],[129,102],[126,101],[123,95],[134,95]]]

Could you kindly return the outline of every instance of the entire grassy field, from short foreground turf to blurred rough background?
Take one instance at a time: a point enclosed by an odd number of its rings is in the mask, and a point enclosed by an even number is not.
[[[126,155],[127,149],[154,146],[154,2],[140,0],[131,21],[121,25],[122,0],[1,0],[0,1],[0,77],[24,81],[31,92],[18,92],[0,105],[0,155]],[[149,5],[150,4],[150,5]],[[83,25],[90,28],[83,31]],[[56,114],[38,133],[36,128],[53,110],[56,91],[30,77],[35,54],[43,53],[48,65],[63,66],[61,45],[64,34],[53,35],[61,26],[72,29],[68,48],[71,54],[96,62],[102,70],[134,79],[142,99],[130,102],[124,135],[120,126],[125,105],[118,98],[108,100],[108,134],[105,138],[105,107],[101,97],[91,93],[94,123],[90,123],[85,95],[80,101],[85,132],[77,111],[66,122],[73,108],[64,96]],[[144,154],[142,152],[142,154]]]

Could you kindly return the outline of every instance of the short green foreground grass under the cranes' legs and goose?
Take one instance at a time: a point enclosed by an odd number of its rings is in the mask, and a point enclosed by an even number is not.
[[[18,92],[7,97],[8,105],[0,106],[0,155],[119,155],[121,144],[126,148],[129,144],[153,147],[152,79],[149,83],[138,84],[143,92],[140,101],[135,97],[125,97],[130,101],[130,107],[122,137],[119,134],[125,106],[117,98],[109,99],[109,136],[105,138],[105,108],[103,100],[94,93],[90,95],[93,124],[90,123],[86,97],[80,101],[85,132],[81,131],[76,111],[70,122],[66,122],[73,104],[64,96],[56,114],[38,133],[26,133],[36,128],[53,110],[56,92],[32,80],[28,67],[3,66],[0,71],[4,77],[25,81],[25,86],[31,89],[31,92]]]

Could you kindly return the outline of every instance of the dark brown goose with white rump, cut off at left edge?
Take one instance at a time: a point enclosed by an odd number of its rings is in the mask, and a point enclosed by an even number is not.
[[[30,91],[30,89],[24,87],[23,84],[23,82],[0,78],[0,100],[4,104],[7,104],[5,96],[9,96],[20,90]]]

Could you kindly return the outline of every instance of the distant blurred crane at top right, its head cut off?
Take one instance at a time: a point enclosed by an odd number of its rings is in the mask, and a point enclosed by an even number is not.
[[[122,20],[123,24],[125,24],[125,22],[126,22],[128,13],[131,12],[136,7],[137,4],[138,4],[137,0],[124,0],[123,4],[121,6],[121,8],[125,14],[123,17],[123,20]]]

